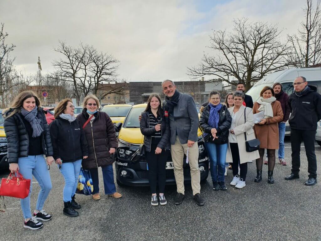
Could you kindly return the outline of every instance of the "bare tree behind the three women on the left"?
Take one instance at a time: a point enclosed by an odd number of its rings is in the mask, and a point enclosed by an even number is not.
[[[53,61],[55,76],[73,83],[78,98],[90,93],[97,94],[101,84],[116,81],[119,61],[112,55],[98,51],[93,46],[68,46],[59,41],[54,51],[62,57]]]

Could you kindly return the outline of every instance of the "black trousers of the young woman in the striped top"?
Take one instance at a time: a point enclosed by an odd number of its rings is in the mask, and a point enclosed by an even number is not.
[[[151,186],[151,192],[156,193],[157,179],[158,189],[160,193],[164,193],[166,183],[166,162],[169,150],[162,150],[160,154],[155,154],[157,146],[151,146],[151,152],[146,152],[146,160],[148,164],[148,180]]]

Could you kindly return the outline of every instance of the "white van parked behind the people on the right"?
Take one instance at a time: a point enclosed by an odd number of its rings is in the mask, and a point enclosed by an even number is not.
[[[317,92],[321,94],[321,68],[298,68],[286,69],[269,74],[260,79],[246,94],[251,95],[253,103],[260,97],[260,92],[264,86],[273,87],[274,83],[281,83],[283,91],[288,95],[293,93],[293,82],[298,76],[307,78],[308,85],[313,85],[317,88]],[[286,123],[285,134],[290,134],[289,123]]]

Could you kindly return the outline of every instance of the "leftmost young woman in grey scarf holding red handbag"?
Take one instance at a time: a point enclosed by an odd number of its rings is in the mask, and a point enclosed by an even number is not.
[[[42,222],[51,216],[42,210],[52,188],[47,165],[54,162],[48,123],[45,111],[40,107],[37,95],[32,91],[21,92],[13,101],[10,108],[3,111],[4,132],[7,137],[7,159],[9,169],[18,172],[26,179],[36,178],[40,185],[36,210],[31,216],[30,192],[28,197],[20,199],[24,217],[24,228],[32,230],[43,227]],[[45,160],[44,155],[47,156]]]

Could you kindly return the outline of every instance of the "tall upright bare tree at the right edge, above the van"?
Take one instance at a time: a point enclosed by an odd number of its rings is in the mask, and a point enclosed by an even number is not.
[[[299,68],[319,66],[321,64],[320,0],[317,0],[315,7],[312,0],[307,0],[303,12],[304,19],[300,23],[298,33],[288,35],[294,49],[291,58],[297,61],[296,67]]]

